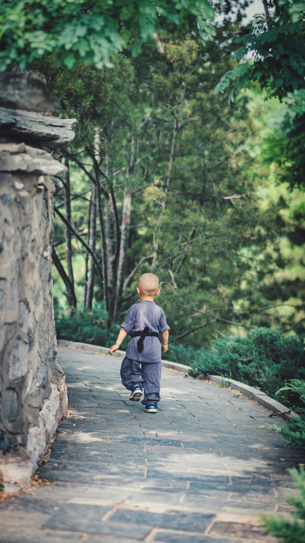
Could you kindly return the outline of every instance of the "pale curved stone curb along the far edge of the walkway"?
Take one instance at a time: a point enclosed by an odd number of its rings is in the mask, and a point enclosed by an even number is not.
[[[100,345],[91,345],[90,343],[80,343],[68,341],[66,339],[58,339],[58,345],[63,345],[74,349],[85,349],[86,351],[103,352],[106,355],[108,354],[108,349],[106,347],[101,347]],[[113,356],[124,357],[125,354],[125,351],[117,350]],[[185,364],[179,364],[178,362],[170,362],[169,360],[161,360],[161,364],[164,368],[174,369],[182,372],[187,372],[190,369],[190,366],[187,366]],[[206,379],[220,385],[221,383],[224,383],[225,387],[230,386],[234,390],[238,390],[238,392],[249,397],[251,400],[255,400],[257,403],[259,403],[259,405],[265,407],[272,413],[277,414],[283,413],[284,411],[289,411],[289,407],[286,407],[282,403],[279,403],[278,401],[271,398],[270,396],[267,396],[264,392],[261,392],[261,390],[250,387],[248,384],[241,383],[240,381],[235,381],[234,379],[229,379],[227,377],[221,377],[220,375],[218,376],[208,374],[201,374],[199,378],[201,378],[201,380]],[[291,418],[299,417],[300,415],[298,415],[294,411],[291,411],[289,415],[287,413],[283,413],[279,416],[281,416],[281,418],[286,420],[287,422],[290,422]]]

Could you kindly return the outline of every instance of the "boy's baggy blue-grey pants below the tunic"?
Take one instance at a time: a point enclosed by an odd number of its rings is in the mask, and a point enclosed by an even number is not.
[[[144,405],[149,402],[160,402],[161,362],[138,362],[125,356],[120,368],[120,377],[128,390],[132,390],[135,384],[143,386]]]

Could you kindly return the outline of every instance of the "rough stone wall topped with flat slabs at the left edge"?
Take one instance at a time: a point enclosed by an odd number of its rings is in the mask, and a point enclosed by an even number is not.
[[[0,74],[0,106],[15,104],[0,107],[0,473],[17,487],[30,486],[67,412],[51,267],[54,176],[66,168],[50,151],[76,122],[37,113],[58,103],[34,75]]]

